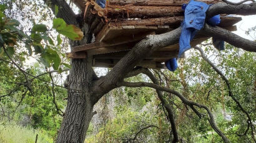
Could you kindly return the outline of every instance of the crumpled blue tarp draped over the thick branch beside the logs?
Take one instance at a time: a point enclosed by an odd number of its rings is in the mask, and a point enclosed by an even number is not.
[[[190,41],[194,39],[195,34],[198,30],[204,27],[205,12],[209,9],[209,5],[204,2],[190,0],[189,4],[182,4],[182,9],[185,10],[184,21],[182,22],[182,32],[180,34],[180,57],[186,50],[190,48]],[[211,17],[208,24],[215,26],[220,24],[220,15]],[[224,41],[213,38],[214,47],[219,50],[224,50]],[[170,70],[174,71],[178,67],[177,59],[171,58],[165,62],[165,66]]]

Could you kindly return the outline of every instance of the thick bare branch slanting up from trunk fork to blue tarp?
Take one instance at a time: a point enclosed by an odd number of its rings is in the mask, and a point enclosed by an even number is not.
[[[106,76],[94,83],[92,88],[92,92],[95,93],[94,102],[96,103],[105,93],[116,88],[117,83],[122,81],[146,55],[150,55],[159,48],[177,43],[180,33],[179,27],[165,34],[148,35],[146,39],[137,43]]]

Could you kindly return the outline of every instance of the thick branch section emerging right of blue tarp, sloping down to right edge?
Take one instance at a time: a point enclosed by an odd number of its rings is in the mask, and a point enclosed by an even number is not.
[[[256,9],[255,9],[256,11]],[[249,52],[256,52],[256,41],[244,39],[237,34],[230,32],[229,30],[222,29],[220,27],[212,27],[208,24],[205,24],[204,34],[207,36],[216,37],[218,39],[222,39],[225,42],[228,42],[235,47],[242,48],[243,50],[247,50]]]

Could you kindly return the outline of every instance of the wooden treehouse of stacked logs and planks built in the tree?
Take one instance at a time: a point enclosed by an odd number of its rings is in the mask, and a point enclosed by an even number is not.
[[[86,1],[84,20],[89,24],[89,32],[95,36],[92,44],[72,48],[69,58],[93,56],[94,67],[114,67],[116,63],[134,47],[137,42],[150,34],[162,34],[180,26],[184,19],[182,4],[188,0],[109,0],[103,9],[95,1]],[[203,1],[208,4],[217,0]],[[237,30],[241,17],[221,17],[219,27]],[[210,37],[195,37],[190,45],[200,44]],[[164,62],[177,57],[179,43],[170,45],[147,56],[137,66],[165,68]]]

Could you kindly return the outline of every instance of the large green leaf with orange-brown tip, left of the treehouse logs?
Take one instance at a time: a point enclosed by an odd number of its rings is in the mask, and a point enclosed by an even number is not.
[[[59,34],[69,37],[71,40],[81,40],[84,34],[81,29],[75,25],[67,25],[63,19],[53,19],[53,28],[59,32]]]

